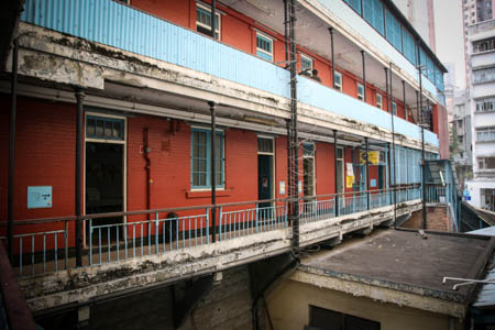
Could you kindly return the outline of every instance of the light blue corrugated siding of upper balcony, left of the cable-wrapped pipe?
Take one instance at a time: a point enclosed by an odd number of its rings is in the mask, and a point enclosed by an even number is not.
[[[289,97],[287,70],[116,1],[28,0],[21,20]]]

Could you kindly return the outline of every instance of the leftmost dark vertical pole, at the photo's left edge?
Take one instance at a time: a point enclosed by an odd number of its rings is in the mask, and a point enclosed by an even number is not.
[[[7,202],[7,250],[9,260],[13,262],[13,202],[14,202],[14,174],[15,174],[15,117],[18,110],[18,58],[19,42],[13,41],[12,50],[12,82],[11,82],[11,108],[9,127],[9,193]]]

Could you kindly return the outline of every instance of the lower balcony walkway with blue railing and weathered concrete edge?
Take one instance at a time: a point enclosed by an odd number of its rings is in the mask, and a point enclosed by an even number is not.
[[[366,196],[339,198],[338,217],[334,197],[301,201],[301,249],[321,242],[338,244],[344,234],[392,226],[391,194],[371,194],[370,210]],[[419,197],[417,187],[397,191],[397,217],[419,210]],[[136,287],[167,285],[292,251],[293,228],[283,200],[265,208],[253,202],[218,206],[215,242],[209,226],[210,207],[201,208],[202,211],[193,210],[194,216],[163,219],[162,211],[156,211],[155,219],[118,224],[95,226],[101,215],[88,216],[94,217],[85,219],[91,244],[86,246],[82,267],[76,267],[75,257],[64,245],[74,241],[67,230],[69,220],[58,221],[59,227],[66,228],[62,233],[26,233],[22,226],[24,232],[14,237],[15,271],[31,309],[36,312]],[[26,253],[33,251],[29,245],[34,246],[34,253]]]

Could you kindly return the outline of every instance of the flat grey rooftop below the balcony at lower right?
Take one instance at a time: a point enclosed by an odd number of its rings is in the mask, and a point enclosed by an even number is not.
[[[479,278],[495,241],[465,234],[378,230],[301,262],[305,273],[466,304],[474,286],[452,289],[444,276]],[[380,299],[380,298],[378,298]],[[426,306],[425,306],[426,308]]]

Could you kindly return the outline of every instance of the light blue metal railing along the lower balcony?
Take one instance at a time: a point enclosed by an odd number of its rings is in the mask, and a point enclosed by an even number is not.
[[[300,198],[300,224],[418,199],[420,187],[354,191]],[[338,201],[338,202],[336,202]],[[164,254],[287,229],[288,199],[198,207],[86,215],[82,217],[82,265]],[[338,205],[338,210],[336,206]],[[211,210],[217,209],[212,223]],[[75,267],[76,217],[14,221],[13,265],[18,275],[34,276]],[[6,226],[4,222],[0,226]],[[0,227],[1,228],[1,227]],[[0,241],[6,240],[0,237]]]

